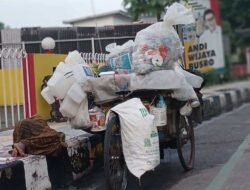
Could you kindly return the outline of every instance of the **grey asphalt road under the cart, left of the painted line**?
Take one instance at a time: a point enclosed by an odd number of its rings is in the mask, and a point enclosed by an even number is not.
[[[169,162],[162,162],[155,171],[143,175],[141,186],[139,186],[139,181],[135,177],[129,175],[127,189],[203,190],[209,187],[208,190],[212,190],[213,180],[215,181],[218,178],[217,181],[226,181],[233,173],[227,168],[231,162],[225,164],[232,156],[237,156],[238,147],[250,134],[249,116],[250,104],[244,104],[232,112],[203,122],[195,128],[196,160],[194,170],[187,173],[183,172],[178,158],[174,152],[171,152]],[[219,172],[224,172],[223,179],[220,179]],[[92,172],[91,175],[84,177],[70,189],[104,190],[103,169]]]

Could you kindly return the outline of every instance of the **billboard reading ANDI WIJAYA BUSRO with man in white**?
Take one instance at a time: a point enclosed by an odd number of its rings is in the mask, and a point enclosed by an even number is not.
[[[183,27],[187,69],[224,72],[224,50],[218,0],[189,0],[196,23]]]

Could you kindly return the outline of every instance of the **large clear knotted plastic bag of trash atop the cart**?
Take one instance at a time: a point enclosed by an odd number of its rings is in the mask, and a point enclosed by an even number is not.
[[[190,24],[194,21],[191,10],[174,3],[168,8],[163,22],[139,31],[133,53],[135,72],[145,74],[152,70],[171,69],[183,54],[181,40],[173,25]],[[146,67],[145,64],[151,67]]]

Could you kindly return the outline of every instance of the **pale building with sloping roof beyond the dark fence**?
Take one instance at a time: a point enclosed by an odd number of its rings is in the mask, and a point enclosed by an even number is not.
[[[119,10],[108,13],[98,14],[95,16],[82,17],[72,20],[63,21],[64,24],[80,27],[95,27],[108,25],[124,25],[131,23],[132,18],[127,12]]]

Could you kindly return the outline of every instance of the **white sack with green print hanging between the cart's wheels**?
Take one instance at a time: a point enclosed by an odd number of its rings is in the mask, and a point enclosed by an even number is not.
[[[129,171],[140,178],[160,163],[159,137],[154,116],[139,98],[111,109],[119,115],[122,148]]]

